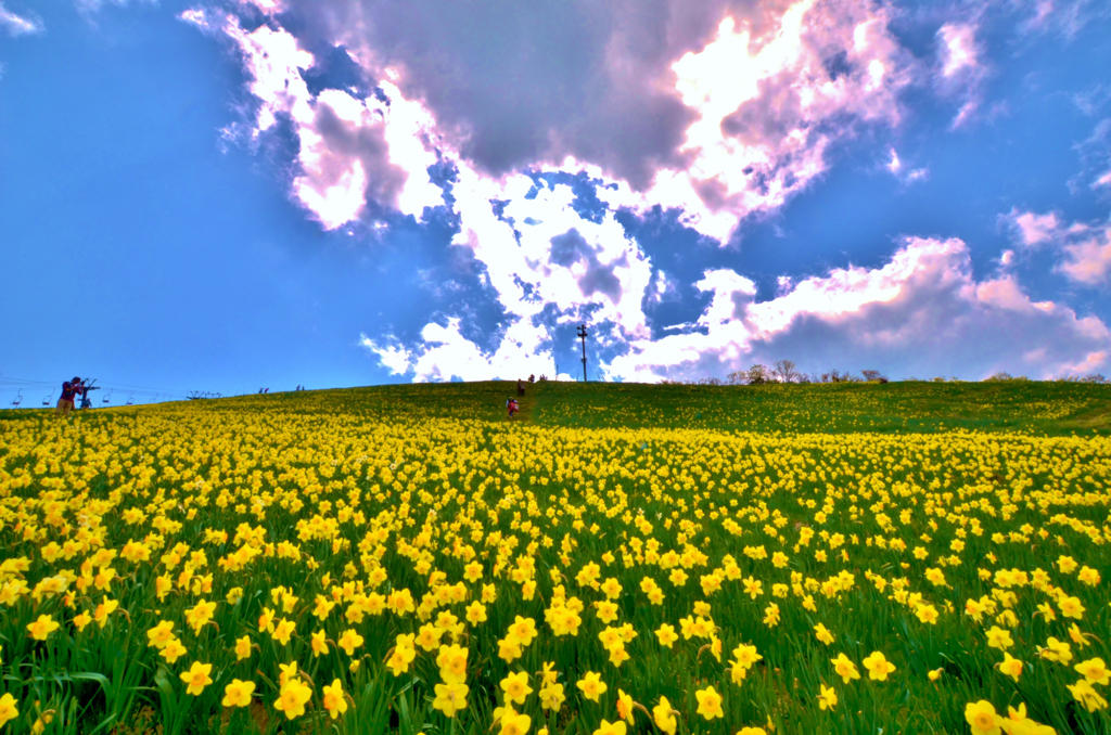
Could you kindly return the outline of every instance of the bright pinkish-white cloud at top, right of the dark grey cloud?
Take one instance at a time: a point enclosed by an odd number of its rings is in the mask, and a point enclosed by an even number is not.
[[[913,63],[885,11],[853,0],[801,0],[771,30],[727,17],[704,48],[672,64],[694,113],[679,152],[640,198],[679,208],[727,240],[740,219],[781,207],[829,167],[828,151],[859,123],[898,124]]]

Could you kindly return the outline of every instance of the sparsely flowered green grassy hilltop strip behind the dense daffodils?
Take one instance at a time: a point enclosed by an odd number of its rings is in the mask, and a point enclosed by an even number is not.
[[[380,385],[247,395],[204,402],[220,412],[353,415],[406,421],[504,421],[510,382]],[[186,404],[90,412],[174,412]],[[787,433],[1021,431],[1044,435],[1111,432],[1111,386],[1081,383],[839,383],[814,385],[649,385],[537,383],[520,400],[521,423],[578,427],[674,427]],[[48,415],[6,411],[0,415]]]

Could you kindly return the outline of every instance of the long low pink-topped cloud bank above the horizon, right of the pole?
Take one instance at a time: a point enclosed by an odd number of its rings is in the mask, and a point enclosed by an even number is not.
[[[822,368],[815,363],[851,354],[918,374],[1054,376],[1104,368],[1111,353],[1111,331],[1098,318],[1032,301],[1013,275],[977,281],[955,239],[908,239],[881,268],[834,269],[762,303],[752,301],[750,284],[728,271],[708,273],[700,284],[713,291],[700,320],[704,333],[632,342],[611,372],[697,377],[783,356]]]

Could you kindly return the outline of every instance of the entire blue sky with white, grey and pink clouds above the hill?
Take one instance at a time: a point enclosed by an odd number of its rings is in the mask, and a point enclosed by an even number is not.
[[[0,0],[0,403],[1111,373],[1108,70],[1102,0]]]

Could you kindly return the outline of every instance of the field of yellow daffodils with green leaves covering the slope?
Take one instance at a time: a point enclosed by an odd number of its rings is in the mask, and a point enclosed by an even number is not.
[[[1111,732],[1104,399],[672,387],[7,412],[0,733]]]

